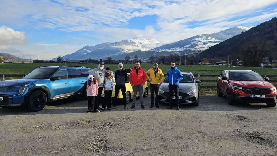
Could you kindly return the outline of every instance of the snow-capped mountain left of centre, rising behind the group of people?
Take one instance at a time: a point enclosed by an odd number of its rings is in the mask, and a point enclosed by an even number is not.
[[[153,38],[132,38],[119,42],[107,42],[95,46],[85,46],[75,53],[63,56],[70,59],[105,58],[111,55],[131,53],[134,51],[147,51],[160,45],[160,42]]]

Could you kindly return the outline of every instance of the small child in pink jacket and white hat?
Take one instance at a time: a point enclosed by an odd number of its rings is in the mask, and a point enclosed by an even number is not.
[[[97,106],[94,105],[95,97],[98,94],[98,88],[99,87],[98,87],[97,79],[95,79],[92,75],[89,75],[89,79],[87,80],[87,97],[88,97],[87,105],[89,107],[89,110],[87,111],[87,113],[100,112],[97,109]]]

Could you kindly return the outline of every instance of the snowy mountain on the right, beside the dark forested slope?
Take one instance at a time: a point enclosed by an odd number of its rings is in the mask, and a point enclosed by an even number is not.
[[[247,31],[250,28],[251,27],[237,26],[227,30],[219,31],[217,33],[196,35],[184,40],[156,47],[151,49],[151,51],[203,51],[215,44],[242,33],[242,31]]]

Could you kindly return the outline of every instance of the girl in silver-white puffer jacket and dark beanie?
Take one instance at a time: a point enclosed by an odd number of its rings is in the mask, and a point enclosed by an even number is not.
[[[106,68],[106,77],[104,82],[104,103],[102,105],[102,110],[105,110],[106,106],[108,107],[108,110],[112,110],[111,104],[112,104],[112,92],[113,92],[113,86],[115,85],[115,78],[111,76],[111,68],[108,66]]]

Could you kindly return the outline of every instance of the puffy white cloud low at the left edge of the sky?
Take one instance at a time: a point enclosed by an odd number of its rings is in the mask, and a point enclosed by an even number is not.
[[[6,26],[0,27],[0,49],[8,49],[13,44],[24,44],[25,39],[24,32],[14,31]]]

